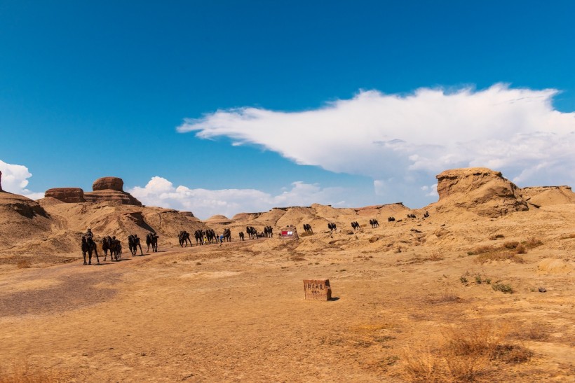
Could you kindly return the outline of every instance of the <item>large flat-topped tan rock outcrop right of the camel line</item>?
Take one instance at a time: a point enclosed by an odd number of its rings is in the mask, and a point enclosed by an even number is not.
[[[438,179],[438,210],[459,207],[480,216],[498,217],[529,207],[520,195],[520,188],[501,172],[486,167],[451,169]]]

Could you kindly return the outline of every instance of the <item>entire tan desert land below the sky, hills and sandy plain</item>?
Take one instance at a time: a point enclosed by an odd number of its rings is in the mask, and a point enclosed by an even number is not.
[[[487,168],[437,179],[421,209],[204,221],[143,206],[116,177],[38,201],[0,192],[0,382],[574,382],[571,188]],[[250,226],[273,237],[240,240]],[[83,265],[86,228],[121,258]],[[231,242],[178,242],[210,229]],[[132,256],[128,235],[149,232],[158,251]],[[331,299],[306,300],[321,278]]]

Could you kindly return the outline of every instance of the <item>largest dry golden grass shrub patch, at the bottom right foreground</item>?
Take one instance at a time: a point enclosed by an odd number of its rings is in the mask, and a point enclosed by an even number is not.
[[[447,328],[444,344],[436,349],[405,349],[403,372],[410,382],[478,382],[489,377],[498,363],[524,363],[532,351],[506,341],[505,327],[475,321]]]

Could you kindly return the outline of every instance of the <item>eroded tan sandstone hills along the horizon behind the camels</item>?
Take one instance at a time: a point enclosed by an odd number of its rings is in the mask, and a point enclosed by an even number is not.
[[[556,214],[553,211],[557,209],[569,211],[575,206],[575,194],[567,186],[520,189],[500,172],[487,168],[446,170],[437,178],[438,202],[421,209],[410,209],[400,202],[359,208],[312,204],[241,213],[233,218],[216,215],[205,221],[190,211],[144,207],[123,192],[123,181],[116,177],[96,180],[91,193],[84,193],[80,188],[53,188],[38,202],[3,192],[0,193],[0,237],[8,247],[0,252],[0,258],[18,253],[77,253],[81,234],[88,227],[97,239],[110,235],[123,242],[129,234],[143,238],[147,232],[156,232],[161,237],[160,243],[169,246],[177,245],[177,234],[181,230],[192,233],[198,228],[213,228],[219,234],[229,228],[232,238],[237,240],[238,233],[245,232],[248,225],[258,232],[269,225],[276,233],[280,228],[295,226],[304,239],[297,251],[321,251],[334,246],[401,251],[412,245],[463,249],[468,241],[489,237],[493,231],[489,225],[470,230],[466,222],[485,220],[487,223],[513,216],[508,229],[518,234],[520,222],[534,219],[533,214],[545,220]],[[426,211],[430,214],[428,218],[424,218]],[[408,214],[416,218],[408,218]],[[388,217],[394,217],[395,221],[388,222]],[[377,219],[381,229],[372,230],[371,219]],[[360,231],[351,228],[352,221],[360,224]],[[306,238],[304,223],[310,224],[314,233],[332,235],[323,239]],[[327,223],[336,223],[337,231],[330,232]],[[542,223],[541,228],[546,225]],[[334,234],[344,237],[334,239]],[[363,236],[359,242],[358,235]]]

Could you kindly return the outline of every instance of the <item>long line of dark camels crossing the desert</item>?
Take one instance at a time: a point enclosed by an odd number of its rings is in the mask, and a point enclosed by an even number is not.
[[[429,213],[426,211],[422,218],[427,218]],[[407,218],[417,218],[415,214],[407,214]],[[395,222],[394,217],[388,217],[388,222]],[[402,220],[398,220],[400,222]],[[377,219],[372,218],[370,219],[370,225],[372,228],[378,228],[379,222]],[[291,225],[290,227],[294,227]],[[334,222],[327,223],[327,228],[330,230],[330,233],[337,231],[337,225]],[[351,228],[353,230],[361,230],[361,225],[357,221],[351,222]],[[304,232],[306,235],[313,235],[313,230],[309,223],[304,223],[303,225]],[[273,228],[271,226],[265,226],[264,230],[257,231],[256,228],[253,226],[246,226],[245,233],[248,234],[249,239],[258,239],[258,238],[271,238],[273,237]],[[81,250],[82,256],[84,260],[84,265],[91,265],[92,264],[92,257],[93,255],[96,257],[97,264],[100,265],[100,254],[98,254],[98,246],[93,238],[93,233],[90,228],[88,231],[82,235],[81,237]],[[158,251],[158,235],[156,232],[148,232],[146,235],[146,245],[147,245],[147,253],[151,251],[156,253]],[[238,233],[238,237],[240,241],[245,240],[245,234],[243,231]],[[191,233],[182,230],[177,235],[178,243],[181,247],[187,247],[188,245],[191,247],[193,242],[191,240]],[[202,246],[205,244],[217,244],[220,245],[223,242],[231,242],[231,230],[226,228],[222,231],[221,235],[217,235],[216,232],[212,229],[201,230],[198,229],[194,232],[194,239],[196,239],[196,246]],[[104,253],[104,261],[107,260],[108,252],[110,253],[110,260],[111,261],[119,261],[122,258],[122,244],[119,239],[116,239],[115,236],[105,236],[102,238],[100,242],[100,249]],[[128,235],[128,249],[130,249],[131,255],[137,256],[137,250],[140,249],[140,256],[144,256],[144,251],[142,250],[142,244],[140,243],[140,237],[137,234],[130,234]]]

